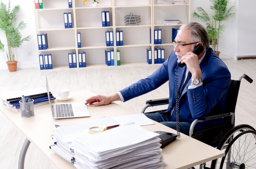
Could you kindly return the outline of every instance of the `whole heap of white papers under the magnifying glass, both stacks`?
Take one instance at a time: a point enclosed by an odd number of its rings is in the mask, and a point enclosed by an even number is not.
[[[145,115],[134,114],[143,123]],[[83,124],[60,126],[53,131],[57,142],[51,149],[76,168],[163,168],[162,149],[158,134],[129,123],[132,115],[101,118]],[[128,122],[128,124],[127,124]],[[125,124],[126,123],[126,124]],[[135,122],[136,123],[136,122]],[[137,122],[138,123],[138,122]],[[90,134],[92,126],[121,126]]]

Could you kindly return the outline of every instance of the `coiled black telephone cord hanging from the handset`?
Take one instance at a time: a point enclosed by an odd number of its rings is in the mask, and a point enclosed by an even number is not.
[[[176,71],[177,67],[175,68],[175,108],[176,108],[176,130],[177,136],[180,137],[180,107],[179,107],[179,98],[180,98],[180,91],[179,91],[179,83],[178,83],[178,71]]]

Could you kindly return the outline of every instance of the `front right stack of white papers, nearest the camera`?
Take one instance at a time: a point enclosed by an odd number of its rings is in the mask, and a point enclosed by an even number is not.
[[[163,168],[158,134],[136,124],[74,139],[76,168]]]

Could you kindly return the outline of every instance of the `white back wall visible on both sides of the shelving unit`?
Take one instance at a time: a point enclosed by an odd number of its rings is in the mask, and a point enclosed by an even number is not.
[[[3,0],[5,4],[8,0]],[[37,53],[37,39],[36,39],[36,25],[34,1],[19,1],[11,0],[12,7],[20,5],[19,19],[27,23],[26,30],[22,31],[23,36],[32,35],[30,41],[25,41],[23,45],[16,50],[15,60],[18,62],[18,68],[38,67],[38,53]],[[210,1],[206,0],[191,0],[191,13],[196,11],[197,6],[202,6],[206,11],[209,9]],[[233,12],[235,16],[223,23],[226,30],[220,38],[219,51],[221,58],[234,58],[237,56],[255,56],[254,41],[256,39],[254,22],[256,18],[255,0],[229,0],[228,7],[235,6]],[[198,18],[191,16],[191,21],[197,21],[204,24]],[[0,32],[1,41],[5,40],[3,32]],[[0,69],[7,69],[6,56],[0,53]]]

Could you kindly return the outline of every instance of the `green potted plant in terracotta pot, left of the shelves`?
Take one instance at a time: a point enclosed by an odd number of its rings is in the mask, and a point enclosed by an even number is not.
[[[14,54],[16,48],[19,48],[24,41],[31,39],[30,35],[22,38],[20,30],[26,28],[24,21],[20,21],[18,26],[16,26],[17,14],[20,10],[20,6],[14,6],[11,10],[10,1],[8,7],[2,1],[0,3],[0,30],[5,33],[7,45],[2,43],[3,40],[0,40],[0,51],[4,52],[7,56],[7,65],[9,71],[17,70],[17,61],[14,59]]]

